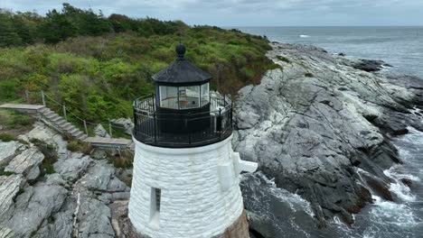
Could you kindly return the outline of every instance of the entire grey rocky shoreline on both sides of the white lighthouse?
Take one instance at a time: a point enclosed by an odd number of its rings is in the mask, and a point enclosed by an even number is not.
[[[401,160],[390,141],[408,126],[423,131],[416,111],[423,109],[423,80],[381,71],[386,64],[378,60],[271,46],[268,57],[280,69],[243,87],[235,104],[234,149],[260,170],[241,184],[251,236],[283,235],[276,220],[258,215],[258,180],[304,199],[301,205],[310,205],[307,214],[323,231],[334,217],[353,224],[372,194],[395,200],[384,170]],[[118,178],[130,169],[114,168],[102,151],[69,151],[44,124],[19,139],[0,141],[1,238],[136,237],[127,219],[130,188]],[[51,155],[40,144],[56,154],[50,171],[43,162]],[[287,212],[260,209],[281,219]]]

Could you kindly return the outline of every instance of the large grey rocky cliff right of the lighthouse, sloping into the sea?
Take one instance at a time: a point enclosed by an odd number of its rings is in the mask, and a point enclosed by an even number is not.
[[[401,160],[390,137],[408,125],[423,129],[421,114],[412,113],[423,107],[423,80],[378,72],[381,61],[272,47],[268,57],[280,69],[240,90],[234,148],[278,188],[309,201],[318,226],[334,215],[353,224],[371,194],[392,199],[383,170]]]

